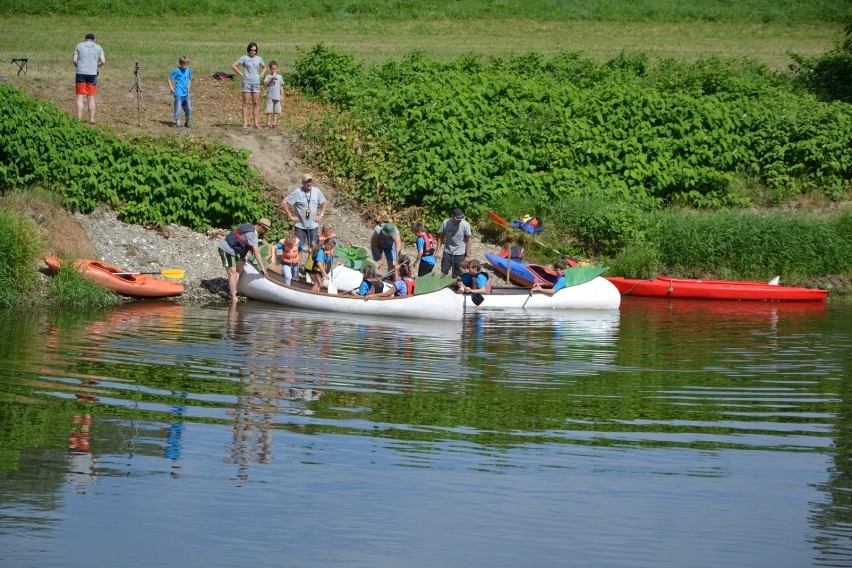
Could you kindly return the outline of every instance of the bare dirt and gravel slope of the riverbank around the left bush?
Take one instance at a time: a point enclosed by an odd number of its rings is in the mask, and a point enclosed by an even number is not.
[[[29,87],[32,87],[29,88],[31,94],[51,99],[73,114],[73,93],[39,91],[35,85]],[[334,228],[343,244],[367,245],[375,223],[394,221],[367,218],[329,183],[323,172],[310,170],[303,163],[303,146],[298,133],[308,115],[317,110],[310,103],[290,96],[280,128],[243,129],[239,94],[232,84],[198,80],[193,81],[192,92],[192,128],[186,129],[173,126],[171,96],[165,86],[154,86],[153,95],[150,90],[146,93],[144,108],[138,115],[135,93],[101,89],[98,93],[97,128],[118,132],[132,130],[154,136],[192,136],[244,148],[250,153],[250,164],[263,177],[277,203],[299,186],[303,173],[311,171],[315,184],[330,201],[325,223]],[[264,118],[261,117],[261,124]],[[98,210],[91,215],[61,217],[64,220],[57,219],[59,225],[67,223],[69,228],[55,227],[51,230],[55,237],[51,239],[54,241],[51,253],[82,257],[90,257],[94,253],[97,258],[129,271],[182,268],[186,270],[187,288],[183,301],[218,301],[228,297],[225,273],[216,252],[225,231],[199,234],[177,226],[151,230],[122,223],[107,210]],[[88,239],[74,239],[71,246],[72,243],[63,235],[68,235],[69,231],[80,231],[80,228]],[[413,243],[405,243],[404,249],[413,251]],[[475,236],[474,257],[484,259],[485,250],[486,247]]]

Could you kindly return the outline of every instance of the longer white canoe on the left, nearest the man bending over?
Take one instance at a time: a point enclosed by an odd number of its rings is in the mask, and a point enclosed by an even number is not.
[[[395,318],[425,318],[460,321],[464,305],[449,288],[402,298],[365,300],[351,294],[327,294],[288,287],[266,278],[246,264],[237,289],[243,295],[264,302],[307,310],[361,314]]]

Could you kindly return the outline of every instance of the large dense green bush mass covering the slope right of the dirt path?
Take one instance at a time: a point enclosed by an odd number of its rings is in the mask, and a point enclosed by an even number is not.
[[[328,80],[341,67],[342,90]],[[358,199],[436,216],[459,206],[476,216],[519,191],[654,209],[745,204],[740,178],[783,195],[850,190],[852,107],[803,95],[748,60],[438,62],[415,52],[361,68],[317,48],[293,82],[339,110],[309,133],[320,167]]]

